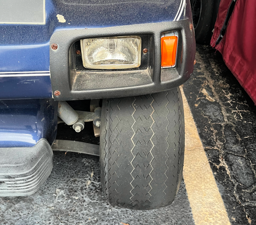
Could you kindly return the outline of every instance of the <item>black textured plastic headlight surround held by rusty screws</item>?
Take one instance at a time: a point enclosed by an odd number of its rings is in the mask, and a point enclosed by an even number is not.
[[[101,99],[160,92],[177,87],[186,82],[193,72],[195,59],[194,30],[190,29],[192,20],[161,22],[63,30],[55,32],[50,39],[58,49],[50,48],[50,73],[53,93],[60,95],[56,101]],[[161,33],[178,31],[178,51],[176,66],[161,69]],[[122,35],[152,36],[152,45],[147,54],[152,54],[152,62],[147,68],[104,71],[77,71],[74,56],[74,43],[77,40],[91,37],[108,37]],[[143,49],[142,43],[142,49]],[[140,68],[140,67],[139,67]]]

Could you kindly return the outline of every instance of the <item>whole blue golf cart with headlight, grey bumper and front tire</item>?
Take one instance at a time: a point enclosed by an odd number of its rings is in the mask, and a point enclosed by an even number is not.
[[[188,0],[9,0],[0,7],[0,196],[35,193],[52,149],[100,156],[112,205],[171,204],[195,37]],[[66,101],[91,100],[90,112]],[[88,101],[87,101],[88,102]],[[69,102],[70,103],[70,102]],[[93,121],[98,145],[55,140]]]

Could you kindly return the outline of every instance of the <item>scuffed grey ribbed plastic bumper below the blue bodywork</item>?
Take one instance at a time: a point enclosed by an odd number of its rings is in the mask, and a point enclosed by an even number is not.
[[[0,148],[0,196],[34,194],[52,170],[53,153],[44,138],[33,147]]]

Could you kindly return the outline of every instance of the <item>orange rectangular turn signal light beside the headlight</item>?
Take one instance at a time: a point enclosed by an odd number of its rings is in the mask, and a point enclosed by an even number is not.
[[[177,36],[163,36],[161,38],[162,66],[171,67],[176,62]]]

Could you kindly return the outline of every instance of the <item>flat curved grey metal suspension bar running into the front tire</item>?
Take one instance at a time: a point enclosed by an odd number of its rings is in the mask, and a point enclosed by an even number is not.
[[[55,140],[51,148],[54,151],[72,151],[100,156],[100,145],[80,141]]]

